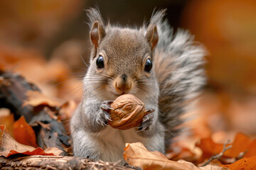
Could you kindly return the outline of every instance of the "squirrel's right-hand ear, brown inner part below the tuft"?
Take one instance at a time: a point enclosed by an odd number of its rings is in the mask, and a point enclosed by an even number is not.
[[[156,47],[156,44],[159,40],[159,35],[157,33],[157,28],[156,26],[149,26],[146,30],[146,40],[148,40],[149,45],[151,46],[151,50],[154,49],[154,47]]]

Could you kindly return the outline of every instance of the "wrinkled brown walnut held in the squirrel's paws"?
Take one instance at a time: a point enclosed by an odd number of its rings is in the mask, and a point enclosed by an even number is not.
[[[150,111],[145,111],[145,106],[139,98],[132,94],[124,94],[119,96],[111,104],[110,116],[112,121],[109,121],[109,125],[112,128],[119,130],[127,130],[129,128],[137,127],[142,123],[142,119]]]

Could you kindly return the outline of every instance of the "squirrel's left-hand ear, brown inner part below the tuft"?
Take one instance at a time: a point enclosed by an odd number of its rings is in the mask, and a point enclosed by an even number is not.
[[[98,21],[95,21],[90,30],[90,40],[96,48],[99,46],[102,38],[105,37],[105,34],[104,26],[102,26]]]

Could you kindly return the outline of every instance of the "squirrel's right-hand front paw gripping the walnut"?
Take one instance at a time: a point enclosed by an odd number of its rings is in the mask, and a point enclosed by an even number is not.
[[[151,126],[153,125],[154,109],[150,108],[149,110],[146,110],[146,112],[149,113],[144,116],[142,123],[139,125],[139,127],[136,128],[137,132],[142,130],[150,130]]]

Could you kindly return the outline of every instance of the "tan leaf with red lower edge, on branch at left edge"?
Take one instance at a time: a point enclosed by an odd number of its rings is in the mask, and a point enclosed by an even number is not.
[[[28,154],[28,155],[54,155],[46,153],[42,148],[22,145],[8,133],[5,132],[5,125],[0,125],[0,156],[9,157],[12,154]]]

